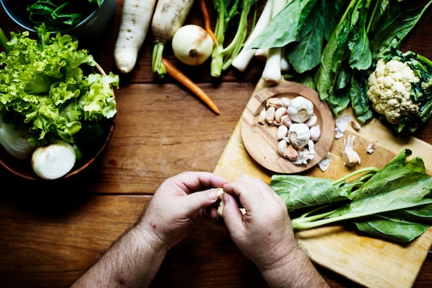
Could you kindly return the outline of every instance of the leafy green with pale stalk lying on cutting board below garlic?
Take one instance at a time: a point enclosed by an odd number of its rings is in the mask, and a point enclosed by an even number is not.
[[[276,174],[270,185],[289,212],[300,212],[294,229],[348,221],[366,234],[406,243],[432,225],[432,177],[422,158],[409,156],[403,150],[382,169],[366,167],[337,181]]]

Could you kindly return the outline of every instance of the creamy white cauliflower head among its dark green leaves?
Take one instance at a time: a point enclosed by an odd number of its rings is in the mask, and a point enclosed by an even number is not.
[[[367,96],[373,110],[386,116],[392,124],[399,123],[401,116],[417,113],[420,107],[411,99],[411,83],[419,81],[406,63],[378,60],[368,79]]]

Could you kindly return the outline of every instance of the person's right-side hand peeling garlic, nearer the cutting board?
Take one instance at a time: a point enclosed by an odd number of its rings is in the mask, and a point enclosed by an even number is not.
[[[299,247],[283,200],[257,178],[240,178],[224,192],[222,216],[235,245],[261,271],[282,265]]]

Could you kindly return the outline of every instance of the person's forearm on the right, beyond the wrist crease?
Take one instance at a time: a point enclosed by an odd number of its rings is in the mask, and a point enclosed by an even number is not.
[[[300,247],[272,267],[262,267],[260,271],[270,287],[328,287]]]

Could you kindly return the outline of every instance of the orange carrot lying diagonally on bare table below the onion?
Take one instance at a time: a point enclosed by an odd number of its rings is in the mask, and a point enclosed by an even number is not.
[[[180,70],[178,70],[173,63],[168,61],[168,59],[162,57],[162,64],[165,66],[166,72],[168,75],[173,77],[173,79],[179,81],[181,84],[183,84],[186,88],[188,88],[191,92],[193,92],[195,95],[198,96],[199,99],[204,101],[208,107],[210,107],[213,112],[216,114],[220,114],[219,109],[216,107],[215,103],[210,99],[210,97],[204,92],[201,88],[197,86],[197,84],[193,83],[188,77],[181,73]]]

